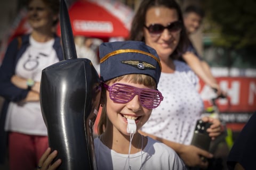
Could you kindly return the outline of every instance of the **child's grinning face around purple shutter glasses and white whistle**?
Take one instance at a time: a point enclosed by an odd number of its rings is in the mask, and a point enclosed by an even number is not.
[[[123,83],[128,84],[137,88],[146,88],[146,89],[154,89],[154,87],[147,87],[143,84],[131,83],[125,80],[117,81],[115,83]],[[111,86],[113,83],[108,84]],[[106,103],[106,111],[109,122],[107,126],[112,126],[113,132],[122,133],[125,135],[130,135],[127,133],[127,118],[135,120],[137,125],[137,130],[145,124],[149,116],[151,115],[152,109],[147,109],[142,107],[138,95],[135,95],[134,98],[126,104],[115,103],[109,97],[109,91],[106,91],[107,95],[107,103]]]

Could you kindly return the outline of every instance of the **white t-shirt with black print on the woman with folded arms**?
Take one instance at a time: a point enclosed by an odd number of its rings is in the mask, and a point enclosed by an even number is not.
[[[38,43],[31,36],[30,46],[20,57],[15,74],[25,79],[41,81],[42,70],[59,62],[53,48],[54,39],[46,43]],[[5,122],[5,130],[33,135],[47,135],[39,101],[27,103],[10,102]]]

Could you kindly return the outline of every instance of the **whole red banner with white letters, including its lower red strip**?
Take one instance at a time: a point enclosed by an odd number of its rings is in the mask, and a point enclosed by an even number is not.
[[[218,77],[216,78],[227,98],[216,100],[220,118],[229,128],[240,131],[256,112],[256,78],[255,77]],[[216,94],[213,90],[199,81],[199,92],[204,100],[205,108],[212,106],[211,98]]]

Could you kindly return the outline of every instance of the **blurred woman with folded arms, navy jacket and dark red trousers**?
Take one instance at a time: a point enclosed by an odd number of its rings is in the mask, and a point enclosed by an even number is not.
[[[0,95],[5,98],[1,137],[9,139],[11,170],[35,169],[48,147],[39,103],[41,71],[63,58],[60,38],[54,32],[59,0],[29,0],[27,5],[32,31],[10,43],[0,67]]]

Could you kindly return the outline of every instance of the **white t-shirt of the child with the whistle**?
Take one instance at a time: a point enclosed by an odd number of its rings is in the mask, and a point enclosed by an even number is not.
[[[147,138],[148,143],[142,151],[130,154],[131,169],[186,169],[173,149],[154,139]],[[94,139],[94,151],[98,170],[129,169],[128,153],[118,154],[114,150],[110,150],[103,145],[99,138]]]

